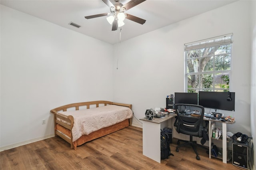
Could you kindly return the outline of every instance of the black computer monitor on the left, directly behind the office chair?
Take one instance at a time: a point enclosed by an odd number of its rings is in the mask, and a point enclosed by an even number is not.
[[[174,103],[198,105],[198,93],[174,93]]]

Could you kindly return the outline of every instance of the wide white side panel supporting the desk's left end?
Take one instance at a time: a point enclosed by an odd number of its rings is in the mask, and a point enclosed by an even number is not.
[[[143,121],[143,155],[161,163],[160,124]]]

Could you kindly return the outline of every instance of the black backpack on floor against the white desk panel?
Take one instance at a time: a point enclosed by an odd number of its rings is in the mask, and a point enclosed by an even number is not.
[[[174,154],[171,153],[170,143],[168,141],[168,135],[161,129],[161,159],[169,158],[170,155],[174,156]]]

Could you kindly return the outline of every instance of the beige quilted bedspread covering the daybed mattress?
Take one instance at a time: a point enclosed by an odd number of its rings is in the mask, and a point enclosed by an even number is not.
[[[84,134],[90,134],[104,127],[109,127],[132,117],[128,107],[107,105],[78,111],[64,111],[63,115],[74,117],[72,128],[73,142]]]

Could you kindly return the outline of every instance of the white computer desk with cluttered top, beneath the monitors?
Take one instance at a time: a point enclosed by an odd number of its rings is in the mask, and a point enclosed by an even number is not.
[[[173,119],[176,114],[166,115],[163,118],[153,118],[153,120],[147,120],[146,118],[141,118],[143,121],[143,131],[142,131],[142,145],[143,145],[143,155],[155,160],[156,162],[161,163],[161,144],[160,144],[160,129],[164,127],[171,127],[174,129]],[[234,124],[234,122],[222,122],[218,119],[210,119],[204,117],[204,121],[209,121],[208,134],[209,134],[209,153],[211,153],[211,125],[212,122],[222,123],[222,162],[227,163],[227,124]],[[172,132],[173,133],[173,132]],[[173,137],[173,136],[172,136]],[[224,152],[225,151],[225,152]],[[211,158],[211,154],[209,154],[209,158]]]

